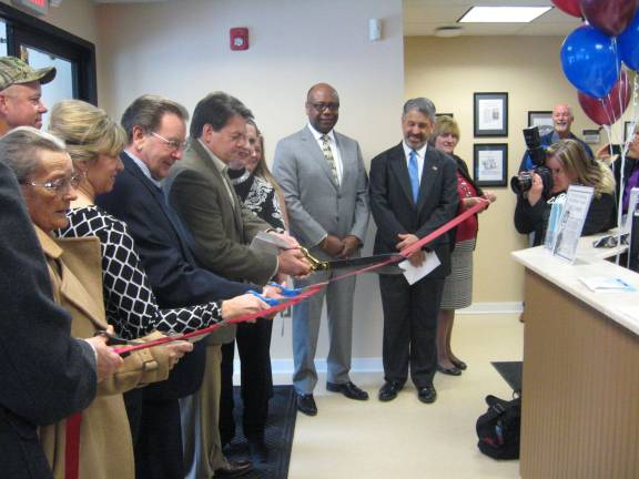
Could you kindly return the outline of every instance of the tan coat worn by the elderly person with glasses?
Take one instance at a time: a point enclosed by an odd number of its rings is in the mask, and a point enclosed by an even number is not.
[[[53,297],[72,317],[71,335],[93,336],[104,329],[100,242],[95,237],[54,240],[36,228],[44,251]],[[148,336],[156,337],[160,334]],[[118,374],[98,385],[98,397],[82,411],[80,427],[81,479],[133,479],[131,431],[122,393],[164,380],[169,358],[162,347],[131,354]],[[55,479],[64,478],[65,421],[40,429],[40,440]]]

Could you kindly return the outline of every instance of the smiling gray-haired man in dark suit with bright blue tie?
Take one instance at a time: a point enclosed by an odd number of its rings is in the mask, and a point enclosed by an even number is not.
[[[435,105],[425,98],[404,104],[404,141],[371,162],[371,211],[377,224],[375,254],[396,253],[455,217],[456,164],[427,145],[435,124]],[[408,261],[419,266],[427,252],[440,265],[409,285],[402,276],[381,275],[384,307],[383,361],[385,384],[379,400],[389,401],[410,378],[423,402],[434,402],[433,377],[437,368],[435,337],[444,279],[450,273],[450,244],[444,234],[413,253]]]

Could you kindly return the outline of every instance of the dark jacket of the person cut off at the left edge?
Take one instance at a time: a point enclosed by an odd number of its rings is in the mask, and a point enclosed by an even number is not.
[[[52,300],[20,187],[2,162],[0,211],[0,476],[52,478],[37,427],[91,404],[95,358],[87,342],[71,338],[71,318]]]

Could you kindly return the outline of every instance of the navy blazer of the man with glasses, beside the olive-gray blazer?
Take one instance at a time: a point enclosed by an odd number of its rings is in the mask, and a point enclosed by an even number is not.
[[[187,233],[168,210],[162,191],[126,153],[121,157],[124,171],[118,175],[113,191],[98,196],[95,203],[129,226],[160,307],[174,308],[246,293],[251,285],[230,282],[196,266]],[[196,343],[165,383],[148,389],[153,388],[166,399],[193,394],[202,381],[204,354],[203,342]]]

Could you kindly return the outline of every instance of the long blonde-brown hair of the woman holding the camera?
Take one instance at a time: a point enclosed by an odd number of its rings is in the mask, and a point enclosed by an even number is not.
[[[595,196],[615,192],[615,176],[610,167],[588,156],[577,140],[559,140],[546,150],[546,157],[555,157],[564,170],[571,173],[578,184],[595,187]]]

